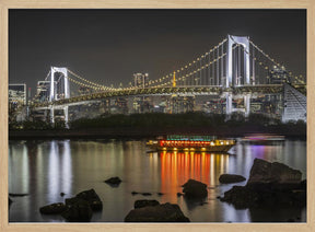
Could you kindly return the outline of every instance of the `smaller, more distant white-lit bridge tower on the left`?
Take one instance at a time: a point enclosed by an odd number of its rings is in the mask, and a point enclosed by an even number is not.
[[[55,80],[55,73],[61,73],[62,77],[59,79],[59,81],[56,82]],[[57,84],[60,82],[60,84],[63,84],[63,88],[61,89],[60,93],[57,93]],[[70,85],[69,85],[69,79],[68,79],[68,69],[67,68],[58,68],[58,67],[50,67],[50,94],[49,94],[49,102],[58,100],[58,96],[63,95],[63,98],[70,97]],[[65,115],[65,124],[68,128],[69,123],[69,106],[63,106],[63,115]],[[55,107],[51,104],[50,106],[50,123],[55,123]]]

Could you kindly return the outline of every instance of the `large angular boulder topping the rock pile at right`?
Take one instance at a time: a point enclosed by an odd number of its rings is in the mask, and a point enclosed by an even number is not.
[[[255,159],[250,169],[247,185],[275,183],[275,184],[299,184],[302,181],[302,173],[285,164]]]

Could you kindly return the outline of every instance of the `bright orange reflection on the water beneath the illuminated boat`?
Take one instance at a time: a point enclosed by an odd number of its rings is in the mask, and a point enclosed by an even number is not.
[[[170,193],[174,201],[189,178],[214,186],[229,169],[229,154],[164,151],[160,153],[160,161],[161,192]]]

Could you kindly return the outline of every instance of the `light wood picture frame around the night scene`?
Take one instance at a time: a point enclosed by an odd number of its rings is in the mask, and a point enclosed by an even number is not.
[[[306,9],[307,222],[306,223],[9,223],[8,83],[9,9]],[[315,1],[313,0],[0,0],[0,231],[315,231]]]

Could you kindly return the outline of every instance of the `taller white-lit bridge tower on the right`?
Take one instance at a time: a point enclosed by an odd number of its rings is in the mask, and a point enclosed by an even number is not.
[[[236,70],[233,70],[233,63],[234,63],[234,57],[233,57],[233,45],[241,45],[243,46],[243,63],[244,63],[244,73],[243,73],[243,83],[241,81],[233,80],[234,72]],[[235,36],[235,35],[228,35],[228,43],[226,43],[226,82],[225,88],[233,88],[235,84],[237,86],[240,85],[248,85],[250,84],[250,62],[249,62],[249,37],[248,36]],[[238,56],[240,57],[240,56]],[[237,60],[241,62],[241,60]],[[234,67],[235,69],[236,67]],[[222,77],[223,79],[223,77]],[[223,83],[223,80],[222,80]],[[240,111],[237,108],[233,108],[232,105],[233,102],[233,94],[231,92],[226,92],[226,108],[225,113],[226,115],[231,115],[232,112]],[[250,111],[250,94],[244,95],[244,105],[245,105],[245,116],[247,117],[249,115]]]

